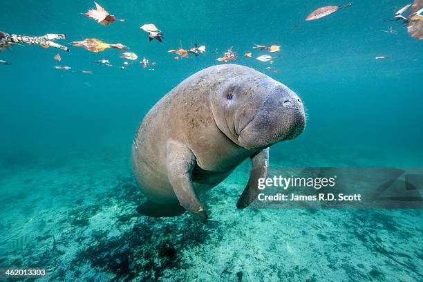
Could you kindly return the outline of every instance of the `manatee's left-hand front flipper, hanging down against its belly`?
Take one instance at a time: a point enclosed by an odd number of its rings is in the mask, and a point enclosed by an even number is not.
[[[196,156],[185,145],[169,142],[167,144],[167,177],[179,203],[189,213],[200,219],[207,219],[207,212],[198,200],[191,173],[196,165]]]

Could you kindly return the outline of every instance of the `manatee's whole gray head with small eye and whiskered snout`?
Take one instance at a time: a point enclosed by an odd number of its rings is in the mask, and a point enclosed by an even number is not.
[[[264,149],[297,138],[306,126],[301,99],[284,84],[252,70],[217,88],[211,97],[220,131],[239,146]]]

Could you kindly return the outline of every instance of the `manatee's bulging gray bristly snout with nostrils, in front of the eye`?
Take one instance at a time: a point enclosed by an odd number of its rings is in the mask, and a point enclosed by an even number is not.
[[[275,88],[256,115],[239,131],[238,142],[248,149],[269,147],[297,138],[306,126],[301,99],[287,87]]]

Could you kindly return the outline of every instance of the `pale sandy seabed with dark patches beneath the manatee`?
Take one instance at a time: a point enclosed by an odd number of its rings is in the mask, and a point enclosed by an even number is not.
[[[245,162],[201,196],[206,223],[146,218],[135,212],[144,197],[128,155],[104,149],[1,167],[0,266],[46,267],[39,281],[423,279],[420,209],[240,211]],[[272,166],[287,165],[275,158]]]

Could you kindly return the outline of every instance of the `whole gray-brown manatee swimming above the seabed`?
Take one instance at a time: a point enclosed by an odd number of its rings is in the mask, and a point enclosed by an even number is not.
[[[186,209],[207,218],[199,191],[218,185],[246,158],[254,171],[249,183],[265,177],[268,147],[296,138],[305,125],[299,97],[252,68],[227,64],[191,75],[153,106],[133,140],[133,170],[150,200],[138,212],[173,216]],[[238,208],[250,204],[252,192],[247,184]]]

